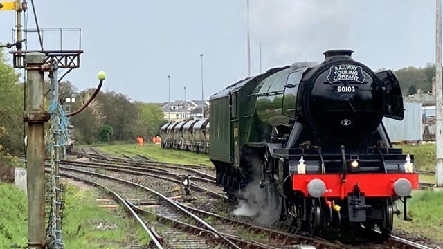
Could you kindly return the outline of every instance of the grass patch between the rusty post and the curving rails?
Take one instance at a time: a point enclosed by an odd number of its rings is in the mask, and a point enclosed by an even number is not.
[[[65,248],[122,248],[127,243],[139,246],[149,243],[141,225],[134,219],[122,219],[123,208],[109,210],[98,207],[96,189],[80,189],[74,185],[66,187],[66,209],[62,225]],[[98,230],[98,225],[116,225],[114,229]],[[134,231],[136,228],[136,231]],[[135,232],[135,234],[134,234]],[[131,236],[134,234],[134,237]]]

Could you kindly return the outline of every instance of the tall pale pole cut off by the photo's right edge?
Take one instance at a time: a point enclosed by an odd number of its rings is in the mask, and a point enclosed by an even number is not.
[[[435,180],[437,187],[443,187],[443,84],[442,84],[442,0],[437,0],[437,20],[435,37]]]

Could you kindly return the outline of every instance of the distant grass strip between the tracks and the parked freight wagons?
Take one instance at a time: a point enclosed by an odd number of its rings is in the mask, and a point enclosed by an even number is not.
[[[107,145],[98,149],[108,153],[111,152],[117,154],[118,156],[121,156],[122,154],[127,154],[129,156],[141,154],[165,163],[213,166],[213,163],[209,160],[209,156],[206,154],[197,154],[191,151],[179,151],[177,149],[163,149],[160,145],[150,143],[143,145],[143,147],[136,144]]]

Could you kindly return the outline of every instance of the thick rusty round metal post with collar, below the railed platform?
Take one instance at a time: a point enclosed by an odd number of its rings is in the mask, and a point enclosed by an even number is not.
[[[28,81],[26,82],[26,113],[28,123],[28,249],[42,249],[46,237],[44,221],[44,123],[49,113],[44,111],[44,53],[25,55]]]

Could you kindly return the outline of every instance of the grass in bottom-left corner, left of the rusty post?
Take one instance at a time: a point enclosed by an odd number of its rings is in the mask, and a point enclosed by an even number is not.
[[[28,201],[18,187],[0,182],[0,248],[26,246]]]

